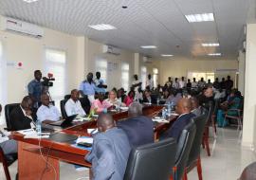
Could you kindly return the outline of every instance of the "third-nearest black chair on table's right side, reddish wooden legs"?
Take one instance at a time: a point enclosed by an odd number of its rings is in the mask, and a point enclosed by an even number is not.
[[[185,179],[187,178],[187,173],[196,166],[198,178],[199,180],[202,180],[203,177],[202,177],[200,149],[201,149],[202,137],[204,135],[205,126],[207,123],[207,114],[205,112],[200,117],[194,117],[192,120],[196,126],[196,133],[193,138],[192,150],[189,155],[189,160],[188,160],[187,168],[185,171]]]

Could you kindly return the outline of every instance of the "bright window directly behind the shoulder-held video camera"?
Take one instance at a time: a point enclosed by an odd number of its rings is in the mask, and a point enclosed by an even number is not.
[[[49,93],[55,104],[64,99],[66,88],[66,53],[63,50],[46,49],[45,76],[52,73],[55,81],[53,87],[49,87]]]

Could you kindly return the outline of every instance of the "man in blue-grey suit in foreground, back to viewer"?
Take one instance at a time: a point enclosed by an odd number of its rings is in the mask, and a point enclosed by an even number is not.
[[[94,136],[92,151],[85,156],[92,163],[92,179],[123,179],[131,151],[128,137],[115,127],[109,114],[101,114],[97,126],[100,133]]]

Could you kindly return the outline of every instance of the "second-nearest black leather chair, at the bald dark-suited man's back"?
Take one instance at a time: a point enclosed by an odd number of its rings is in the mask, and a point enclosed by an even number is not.
[[[195,132],[196,127],[191,120],[179,136],[177,142],[177,153],[175,154],[174,180],[180,180],[184,175],[189,154],[191,153]]]

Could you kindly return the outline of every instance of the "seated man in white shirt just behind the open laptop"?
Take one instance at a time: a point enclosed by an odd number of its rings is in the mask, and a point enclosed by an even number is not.
[[[86,115],[84,110],[82,109],[81,102],[79,100],[80,93],[77,89],[73,89],[71,91],[71,98],[68,99],[64,104],[64,110],[67,117],[71,117],[73,115]]]

